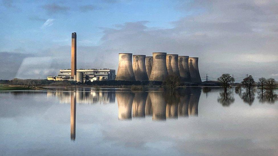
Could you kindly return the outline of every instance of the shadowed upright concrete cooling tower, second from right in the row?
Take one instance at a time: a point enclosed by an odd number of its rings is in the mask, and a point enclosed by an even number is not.
[[[191,81],[188,58],[189,58],[189,56],[179,56],[178,57],[179,74],[181,75],[181,79],[186,82]]]

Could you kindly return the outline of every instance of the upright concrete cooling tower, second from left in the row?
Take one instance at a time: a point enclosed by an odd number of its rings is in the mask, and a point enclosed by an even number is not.
[[[148,81],[148,75],[146,71],[146,55],[133,55],[133,72],[136,81]]]

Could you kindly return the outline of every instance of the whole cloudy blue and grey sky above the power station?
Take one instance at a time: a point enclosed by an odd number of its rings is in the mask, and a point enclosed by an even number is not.
[[[199,57],[201,77],[278,80],[275,0],[0,1],[0,79],[45,79],[70,68],[118,68],[118,53]]]

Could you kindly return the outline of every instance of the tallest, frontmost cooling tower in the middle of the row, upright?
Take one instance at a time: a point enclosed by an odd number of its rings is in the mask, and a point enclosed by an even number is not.
[[[153,65],[150,74],[150,81],[164,81],[168,76],[166,67],[166,53],[152,53]]]

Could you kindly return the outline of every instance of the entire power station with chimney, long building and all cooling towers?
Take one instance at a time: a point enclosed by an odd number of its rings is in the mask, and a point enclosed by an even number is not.
[[[124,81],[165,81],[168,76],[180,77],[183,82],[201,83],[198,57],[179,56],[163,52],[153,56],[119,53],[118,72],[114,69],[78,69],[77,35],[71,33],[71,68],[60,70],[58,76],[48,76],[48,80],[73,80],[77,82],[95,80]],[[133,60],[133,61],[132,61]]]

